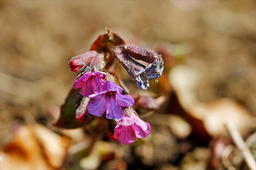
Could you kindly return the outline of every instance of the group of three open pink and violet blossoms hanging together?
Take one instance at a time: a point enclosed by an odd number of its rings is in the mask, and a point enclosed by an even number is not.
[[[80,94],[91,98],[87,104],[88,112],[94,116],[102,116],[106,113],[106,118],[117,121],[114,136],[123,144],[131,144],[135,137],[148,136],[150,125],[139,119],[135,111],[130,108],[134,105],[132,97],[122,95],[123,88],[115,82],[104,79],[106,73],[96,71],[85,73],[74,82],[74,89],[81,88]],[[132,113],[128,114],[128,110],[132,110]]]

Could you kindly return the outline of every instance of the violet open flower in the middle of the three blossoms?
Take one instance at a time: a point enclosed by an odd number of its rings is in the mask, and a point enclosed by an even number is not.
[[[95,116],[102,116],[106,112],[106,118],[120,121],[124,115],[121,107],[134,105],[134,100],[130,95],[121,95],[123,88],[110,80],[106,81],[106,90],[89,95],[93,100],[89,101],[87,110]]]

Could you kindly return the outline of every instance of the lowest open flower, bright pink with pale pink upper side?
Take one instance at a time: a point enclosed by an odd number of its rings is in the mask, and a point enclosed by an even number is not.
[[[129,108],[132,109],[132,108]],[[133,109],[132,109],[133,110]],[[131,116],[124,114],[123,118],[115,127],[115,138],[122,144],[131,144],[135,138],[145,138],[151,131],[150,124],[142,121],[132,111]]]

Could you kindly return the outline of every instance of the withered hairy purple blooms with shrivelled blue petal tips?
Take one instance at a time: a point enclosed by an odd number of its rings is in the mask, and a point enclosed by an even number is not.
[[[137,85],[141,90],[148,89],[150,79],[157,79],[162,75],[164,69],[162,56],[150,49],[135,45],[119,45],[113,49],[113,52],[117,60],[126,69],[128,75],[137,81]],[[149,64],[145,67],[132,58]]]

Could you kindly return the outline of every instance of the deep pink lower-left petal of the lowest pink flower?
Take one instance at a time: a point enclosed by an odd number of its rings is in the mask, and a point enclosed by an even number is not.
[[[122,144],[131,144],[134,142],[136,136],[130,126],[119,126],[115,127],[115,138]]]

